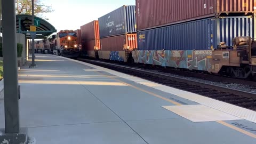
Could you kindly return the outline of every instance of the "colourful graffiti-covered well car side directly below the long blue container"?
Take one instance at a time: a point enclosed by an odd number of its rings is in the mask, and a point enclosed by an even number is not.
[[[210,69],[212,51],[137,51],[135,61],[163,67],[195,70]]]

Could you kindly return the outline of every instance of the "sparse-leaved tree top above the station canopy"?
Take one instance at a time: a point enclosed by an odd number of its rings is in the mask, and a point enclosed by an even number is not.
[[[15,0],[16,14],[32,14],[32,1],[31,0]],[[47,6],[41,0],[34,0],[34,14],[41,17],[42,13],[53,12],[52,6]]]

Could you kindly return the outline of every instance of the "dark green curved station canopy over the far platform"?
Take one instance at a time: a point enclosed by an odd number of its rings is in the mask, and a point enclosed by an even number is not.
[[[35,17],[35,20],[38,21],[36,26],[36,39],[43,39],[51,34],[57,32],[57,30],[42,18]],[[26,35],[26,38],[31,38],[30,35],[30,26],[32,25],[32,15],[27,14],[18,14],[16,15],[16,29],[17,33],[22,33]]]

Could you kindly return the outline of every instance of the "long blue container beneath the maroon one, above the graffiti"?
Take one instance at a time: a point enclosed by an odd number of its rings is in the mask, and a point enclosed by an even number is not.
[[[222,17],[138,31],[138,50],[210,50],[232,46],[237,36],[255,36],[253,17]]]

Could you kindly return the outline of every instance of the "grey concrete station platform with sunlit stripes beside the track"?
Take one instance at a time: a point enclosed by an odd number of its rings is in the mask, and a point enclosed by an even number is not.
[[[227,103],[50,54],[29,64],[19,70],[20,122],[36,143],[256,143],[254,111],[231,114]],[[192,122],[164,108],[184,105],[241,120]],[[0,129],[3,108],[0,99]]]

